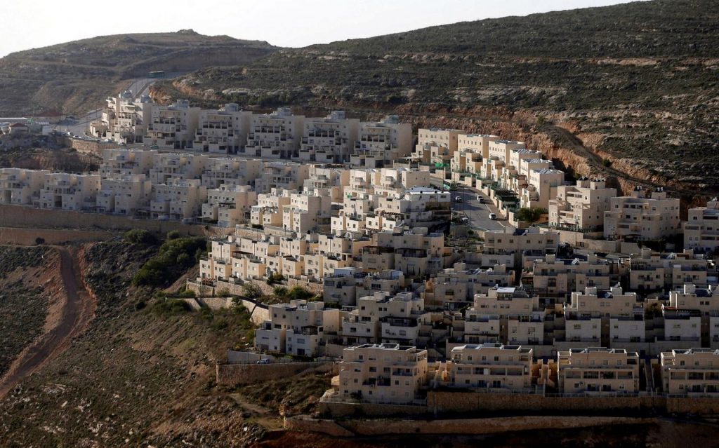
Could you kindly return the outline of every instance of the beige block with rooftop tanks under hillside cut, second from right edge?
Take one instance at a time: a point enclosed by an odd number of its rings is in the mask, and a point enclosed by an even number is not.
[[[659,240],[676,235],[679,228],[679,199],[667,198],[662,188],[649,197],[642,187],[631,196],[612,197],[604,213],[605,238]]]

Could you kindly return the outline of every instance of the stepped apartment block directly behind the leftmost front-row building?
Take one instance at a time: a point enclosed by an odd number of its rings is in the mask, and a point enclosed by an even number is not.
[[[411,292],[391,295],[377,291],[359,297],[357,308],[342,319],[344,345],[375,342],[416,345],[421,323],[426,318],[424,301]]]

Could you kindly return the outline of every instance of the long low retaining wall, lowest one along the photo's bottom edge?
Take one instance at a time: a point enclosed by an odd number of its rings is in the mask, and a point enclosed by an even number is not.
[[[574,429],[591,426],[651,424],[656,419],[631,417],[519,416],[456,420],[313,420],[303,416],[285,419],[285,429],[324,432],[336,437],[383,434],[495,434],[537,429]]]

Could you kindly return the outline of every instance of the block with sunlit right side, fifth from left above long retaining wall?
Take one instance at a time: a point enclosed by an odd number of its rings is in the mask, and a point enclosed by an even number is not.
[[[203,220],[219,227],[234,227],[249,221],[249,210],[257,203],[257,192],[249,185],[220,185],[207,190],[207,202],[202,204]]]

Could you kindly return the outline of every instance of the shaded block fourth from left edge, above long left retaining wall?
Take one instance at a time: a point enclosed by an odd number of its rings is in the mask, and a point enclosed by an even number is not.
[[[201,214],[207,200],[207,189],[200,179],[170,180],[167,184],[152,184],[150,218],[186,219]]]

